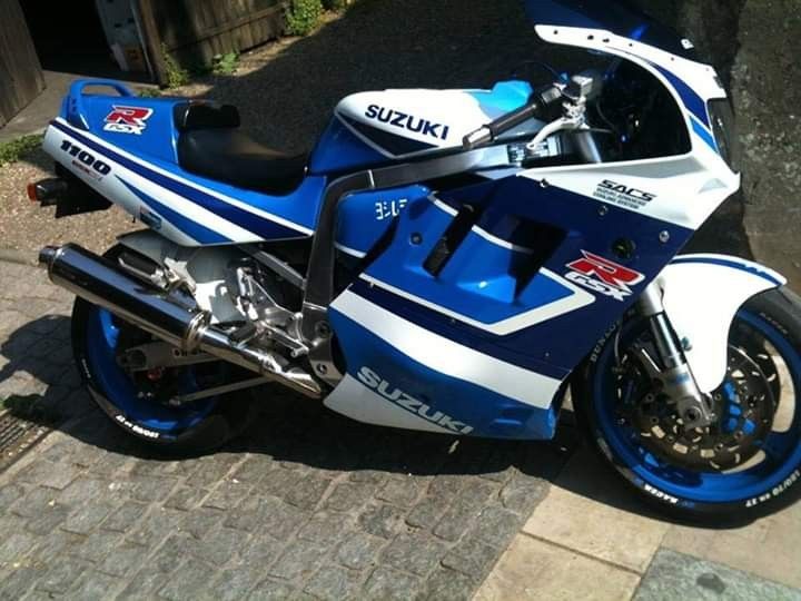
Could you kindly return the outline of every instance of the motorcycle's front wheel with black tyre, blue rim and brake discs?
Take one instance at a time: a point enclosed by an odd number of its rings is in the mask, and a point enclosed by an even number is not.
[[[637,354],[653,348],[632,319],[601,343],[576,391],[592,444],[643,499],[680,519],[739,522],[793,502],[801,489],[801,302],[787,290],[749,300],[729,333],[716,423],[686,430]],[[655,351],[650,353],[655,355]]]

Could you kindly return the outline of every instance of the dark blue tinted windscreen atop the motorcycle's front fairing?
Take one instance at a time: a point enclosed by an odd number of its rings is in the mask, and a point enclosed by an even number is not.
[[[603,29],[696,60],[688,40],[629,0],[524,0],[534,24]]]

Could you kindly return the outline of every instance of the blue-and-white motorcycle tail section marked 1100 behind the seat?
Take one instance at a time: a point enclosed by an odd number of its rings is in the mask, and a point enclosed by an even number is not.
[[[300,171],[299,187],[279,196],[198,174],[179,160],[182,136],[208,134],[204,139],[217,148],[238,134],[238,127],[234,107],[139,98],[116,81],[82,80],[70,88],[43,146],[59,171],[82,187],[76,196],[99,197],[106,200],[103,207],[117,204],[181,246],[309,237],[325,177],[304,178]],[[197,149],[212,162],[228,160],[231,151],[202,145]]]

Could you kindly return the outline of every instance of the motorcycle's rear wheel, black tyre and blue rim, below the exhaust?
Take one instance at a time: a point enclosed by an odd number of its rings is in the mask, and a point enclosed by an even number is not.
[[[106,254],[113,257],[112,248]],[[112,316],[109,312],[77,298],[72,308],[72,352],[76,365],[89,393],[106,415],[125,432],[149,447],[169,455],[197,455],[224,445],[251,422],[255,407],[247,393],[231,393],[181,406],[141,398],[142,386],[117,364],[117,354],[126,341],[154,339],[141,329]],[[204,364],[204,378],[248,377],[239,370],[220,363]],[[216,375],[226,370],[228,374]],[[177,384],[192,392],[201,386],[197,366],[171,368]]]

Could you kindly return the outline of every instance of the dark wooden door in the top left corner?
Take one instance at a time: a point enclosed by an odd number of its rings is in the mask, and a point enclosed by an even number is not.
[[[19,0],[0,0],[0,127],[44,89]]]

